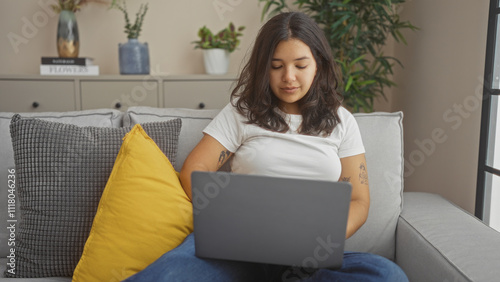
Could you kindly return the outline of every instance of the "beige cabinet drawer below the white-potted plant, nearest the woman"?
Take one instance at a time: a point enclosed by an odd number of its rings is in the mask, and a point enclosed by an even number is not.
[[[165,108],[222,109],[229,103],[234,80],[165,81]]]

